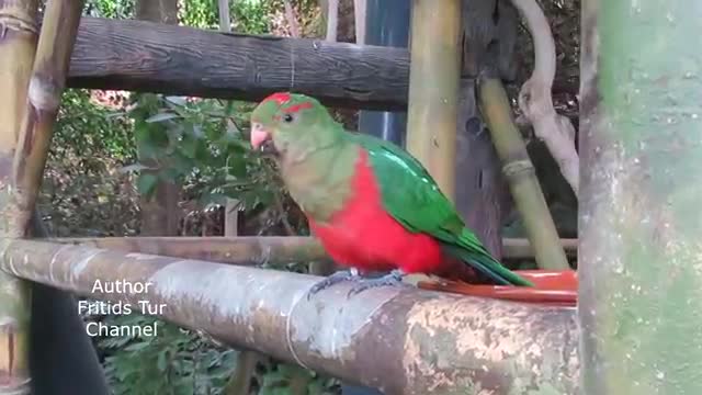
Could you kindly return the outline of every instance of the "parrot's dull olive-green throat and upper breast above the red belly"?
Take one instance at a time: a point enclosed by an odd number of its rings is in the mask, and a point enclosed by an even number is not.
[[[351,194],[351,179],[359,147],[346,138],[318,149],[295,155],[294,149],[281,158],[280,167],[291,196],[302,211],[316,222],[326,223],[343,208]]]

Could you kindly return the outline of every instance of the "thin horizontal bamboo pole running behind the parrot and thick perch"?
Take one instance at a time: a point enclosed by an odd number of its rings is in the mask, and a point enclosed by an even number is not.
[[[154,253],[184,259],[201,259],[233,264],[285,264],[329,259],[321,245],[312,237],[103,237],[53,238],[55,242],[83,244],[120,251]],[[561,240],[566,253],[575,256],[577,239]],[[528,239],[502,239],[505,259],[533,258]]]

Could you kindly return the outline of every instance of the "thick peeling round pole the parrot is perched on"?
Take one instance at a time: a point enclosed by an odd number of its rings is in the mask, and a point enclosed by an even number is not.
[[[319,278],[36,240],[1,239],[0,269],[92,298],[163,304],[160,316],[182,327],[388,395],[578,393],[573,308],[411,286],[348,298],[343,283],[308,301]],[[97,281],[151,285],[91,292]]]

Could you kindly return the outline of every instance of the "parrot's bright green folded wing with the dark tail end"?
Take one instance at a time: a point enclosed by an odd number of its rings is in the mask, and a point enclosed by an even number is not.
[[[416,158],[371,135],[346,135],[369,151],[385,210],[407,229],[435,237],[448,252],[498,284],[533,286],[490,256]]]

